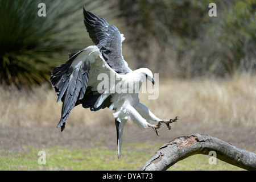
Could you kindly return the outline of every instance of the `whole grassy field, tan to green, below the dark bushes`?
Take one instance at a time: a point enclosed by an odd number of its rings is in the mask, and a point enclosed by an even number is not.
[[[121,159],[117,159],[112,111],[92,113],[73,109],[61,133],[56,129],[61,104],[48,85],[32,93],[0,88],[1,170],[137,170],[162,144],[179,135],[204,133],[248,151],[256,151],[256,77],[247,74],[226,79],[162,80],[158,100],[141,102],[159,118],[180,117],[171,131],[141,131],[127,122]],[[38,164],[38,152],[46,152],[46,165]],[[171,170],[240,170],[209,156],[195,155]]]

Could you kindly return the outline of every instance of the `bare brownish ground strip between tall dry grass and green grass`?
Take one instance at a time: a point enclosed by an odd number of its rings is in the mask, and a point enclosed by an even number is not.
[[[230,133],[232,129],[232,133]],[[0,133],[1,150],[10,150],[16,152],[26,152],[26,146],[35,146],[37,148],[45,148],[52,146],[67,146],[93,148],[97,144],[105,146],[109,150],[116,150],[117,137],[115,133],[115,125],[93,125],[91,127],[68,126],[63,131],[52,126],[12,126],[2,128]],[[193,125],[192,123],[183,123],[182,118],[177,123],[172,124],[172,129],[167,130],[162,126],[158,133],[158,137],[154,130],[148,129],[142,131],[138,127],[130,124],[125,127],[123,133],[123,143],[148,143],[158,145],[159,143],[170,142],[171,139],[180,135],[189,135],[193,133],[208,134],[212,137],[222,139],[232,143],[237,147],[247,150],[256,151],[255,128],[232,126],[232,125]],[[156,151],[158,148],[152,148]]]

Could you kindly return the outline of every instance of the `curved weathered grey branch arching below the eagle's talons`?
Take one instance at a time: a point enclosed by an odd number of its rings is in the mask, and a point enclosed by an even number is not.
[[[143,166],[142,171],[162,171],[195,154],[216,152],[216,158],[247,170],[256,170],[256,154],[205,134],[177,137],[164,144]]]

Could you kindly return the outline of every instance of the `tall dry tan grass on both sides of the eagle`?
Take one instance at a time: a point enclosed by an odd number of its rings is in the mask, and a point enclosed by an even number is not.
[[[228,123],[255,127],[256,77],[242,74],[229,79],[168,79],[159,82],[158,100],[141,102],[159,118],[179,115],[183,122]],[[33,89],[30,94],[0,88],[0,126],[57,125],[61,103],[48,85]],[[108,109],[92,113],[82,106],[72,110],[68,125],[113,122]]]

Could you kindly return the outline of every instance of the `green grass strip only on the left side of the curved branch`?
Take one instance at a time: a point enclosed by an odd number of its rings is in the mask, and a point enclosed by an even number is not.
[[[137,144],[135,144],[136,147]],[[134,146],[133,146],[134,147]],[[141,148],[143,145],[141,145]],[[121,159],[117,151],[106,147],[70,148],[55,146],[40,149],[46,152],[46,165],[38,164],[35,147],[27,147],[27,153],[0,151],[0,170],[136,170],[150,158],[148,152],[130,150],[124,146]]]

